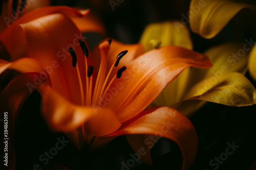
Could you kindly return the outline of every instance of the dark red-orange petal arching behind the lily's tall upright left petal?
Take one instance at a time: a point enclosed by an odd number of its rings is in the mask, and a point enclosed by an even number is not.
[[[7,25],[8,26],[10,25],[10,26],[0,34],[0,41],[2,41],[5,47],[7,48],[7,51],[11,56],[11,61],[14,61],[17,58],[25,57],[27,54],[26,40],[23,32],[20,32],[17,30],[18,25],[29,22],[31,20],[34,20],[42,16],[50,15],[50,14],[61,13],[69,17],[72,17],[72,16],[82,17],[86,15],[88,12],[89,10],[78,11],[70,7],[64,7],[64,6],[40,8],[40,9],[31,11],[27,14],[24,14],[22,17],[20,17],[17,20],[11,19],[7,23]],[[65,27],[59,26],[59,30],[63,28]]]

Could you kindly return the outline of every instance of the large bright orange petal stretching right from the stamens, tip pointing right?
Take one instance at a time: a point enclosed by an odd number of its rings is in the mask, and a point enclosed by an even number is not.
[[[125,122],[143,111],[187,67],[210,67],[209,58],[184,47],[164,46],[147,52],[126,65],[115,79],[102,106],[113,108]]]

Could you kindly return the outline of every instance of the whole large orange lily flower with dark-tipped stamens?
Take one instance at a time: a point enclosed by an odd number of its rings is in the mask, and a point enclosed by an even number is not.
[[[193,163],[198,138],[189,120],[168,107],[144,109],[187,67],[210,67],[207,56],[179,46],[143,54],[139,44],[125,45],[111,39],[91,52],[85,39],[75,36],[80,31],[72,20],[59,13],[23,23],[19,28],[15,34],[25,33],[30,58],[11,63],[0,60],[1,74],[8,68],[24,73],[13,79],[0,96],[4,101],[1,106],[9,110],[13,120],[37,88],[48,126],[65,132],[78,149],[84,143],[96,149],[116,136],[126,135],[136,153],[140,153],[139,144],[144,144],[146,154],[141,160],[152,163],[152,145],[144,139],[158,135],[179,145],[183,169]],[[145,138],[135,143],[134,134],[145,134]]]

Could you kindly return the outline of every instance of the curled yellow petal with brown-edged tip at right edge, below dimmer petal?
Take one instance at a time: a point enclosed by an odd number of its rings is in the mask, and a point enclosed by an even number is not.
[[[256,104],[256,90],[244,75],[230,72],[221,77],[212,76],[196,84],[185,96],[185,101],[172,108],[189,116],[195,108],[208,101],[233,107]],[[199,101],[193,101],[199,100]]]

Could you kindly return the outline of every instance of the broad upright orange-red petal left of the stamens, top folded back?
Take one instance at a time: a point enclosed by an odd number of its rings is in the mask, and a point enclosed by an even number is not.
[[[81,80],[86,80],[84,55],[78,39],[83,39],[74,23],[65,15],[47,15],[21,25],[26,36],[31,58],[38,60],[48,71],[52,87],[74,104],[81,104],[76,67],[72,66],[69,48],[77,56]],[[88,59],[91,59],[89,57]],[[86,83],[83,83],[86,89]]]

